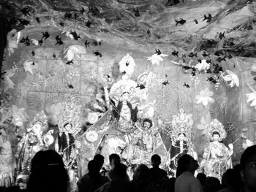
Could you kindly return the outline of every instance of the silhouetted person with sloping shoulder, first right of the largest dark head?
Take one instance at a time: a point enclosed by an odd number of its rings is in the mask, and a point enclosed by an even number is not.
[[[99,173],[100,166],[99,166],[99,161],[97,160],[91,160],[88,163],[88,170],[89,173],[83,175],[83,177],[78,180],[78,192],[83,192],[83,191],[88,191],[88,192],[93,192],[97,188],[101,187],[105,183],[108,183],[108,178],[105,176],[102,176]]]

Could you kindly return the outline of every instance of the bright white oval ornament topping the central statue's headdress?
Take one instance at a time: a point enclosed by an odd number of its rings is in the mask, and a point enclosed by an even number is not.
[[[129,77],[132,76],[135,69],[135,61],[134,59],[129,55],[125,55],[121,61],[119,61],[119,72],[121,72],[122,77],[126,77],[126,79],[129,79]]]

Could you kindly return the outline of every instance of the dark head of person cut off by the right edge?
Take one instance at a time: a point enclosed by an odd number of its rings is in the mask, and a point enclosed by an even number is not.
[[[240,159],[243,192],[256,191],[256,145],[246,148]]]

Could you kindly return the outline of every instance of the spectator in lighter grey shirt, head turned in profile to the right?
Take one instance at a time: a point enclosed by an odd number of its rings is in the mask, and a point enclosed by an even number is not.
[[[178,159],[175,192],[203,192],[199,180],[194,176],[198,167],[197,161],[191,155],[184,154]]]

